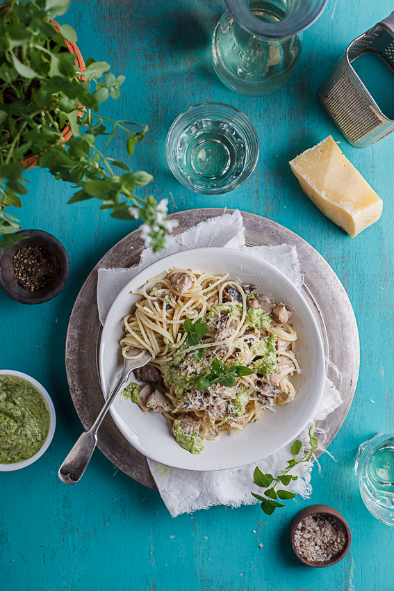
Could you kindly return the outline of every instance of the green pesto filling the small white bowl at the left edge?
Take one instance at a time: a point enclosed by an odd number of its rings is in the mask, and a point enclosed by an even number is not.
[[[50,421],[47,404],[33,384],[0,375],[0,464],[22,462],[37,453]]]

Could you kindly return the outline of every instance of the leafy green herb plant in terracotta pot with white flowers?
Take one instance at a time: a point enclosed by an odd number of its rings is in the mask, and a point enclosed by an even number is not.
[[[74,29],[53,20],[68,7],[69,0],[4,0],[0,8],[0,252],[20,239],[13,236],[18,220],[6,209],[22,207],[24,172],[33,165],[73,184],[69,203],[96,197],[113,218],[141,218],[145,243],[162,250],[174,227],[167,200],[136,195],[153,177],[105,155],[122,131],[130,156],[148,128],[99,115],[102,102],[119,97],[125,77],[106,62],[83,63]]]

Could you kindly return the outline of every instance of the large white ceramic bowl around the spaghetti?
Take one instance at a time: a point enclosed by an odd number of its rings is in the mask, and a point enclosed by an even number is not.
[[[142,270],[120,291],[108,312],[101,336],[99,371],[105,396],[115,385],[123,367],[120,339],[124,336],[123,318],[140,299],[131,291],[140,289],[151,277],[179,266],[252,283],[258,292],[284,302],[293,311],[297,330],[295,352],[302,373],[292,382],[297,397],[277,412],[266,411],[256,423],[235,435],[224,434],[215,441],[204,441],[204,451],[192,455],[181,448],[167,426],[164,416],[153,411],[144,414],[140,407],[117,396],[110,412],[124,437],[148,458],[168,466],[190,470],[230,469],[265,458],[290,443],[312,421],[325,382],[325,356],[318,325],[303,296],[271,264],[252,254],[229,248],[196,248],[170,254]]]

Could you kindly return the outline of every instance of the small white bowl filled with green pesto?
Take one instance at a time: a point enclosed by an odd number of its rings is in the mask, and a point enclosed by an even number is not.
[[[20,470],[47,451],[54,437],[54,403],[30,375],[0,370],[0,471]]]

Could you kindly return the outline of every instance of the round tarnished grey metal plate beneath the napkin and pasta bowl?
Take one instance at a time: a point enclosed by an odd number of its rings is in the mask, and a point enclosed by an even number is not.
[[[227,210],[231,213],[233,210]],[[220,216],[223,209],[194,209],[172,214],[177,234],[199,222]],[[339,389],[343,404],[322,421],[327,433],[325,447],[336,436],[352,404],[359,375],[359,332],[350,300],[327,261],[306,241],[287,228],[254,213],[242,212],[245,238],[249,245],[295,245],[304,274],[303,294],[309,302],[322,333],[325,352],[338,369],[327,367],[327,375]],[[144,250],[140,230],[115,244],[99,261],[82,286],[69,320],[66,341],[66,371],[76,412],[85,429],[92,426],[104,404],[97,367],[101,324],[97,310],[97,270],[131,267]],[[123,437],[110,414],[99,430],[98,446],[108,460],[147,487],[156,489],[147,458]]]

